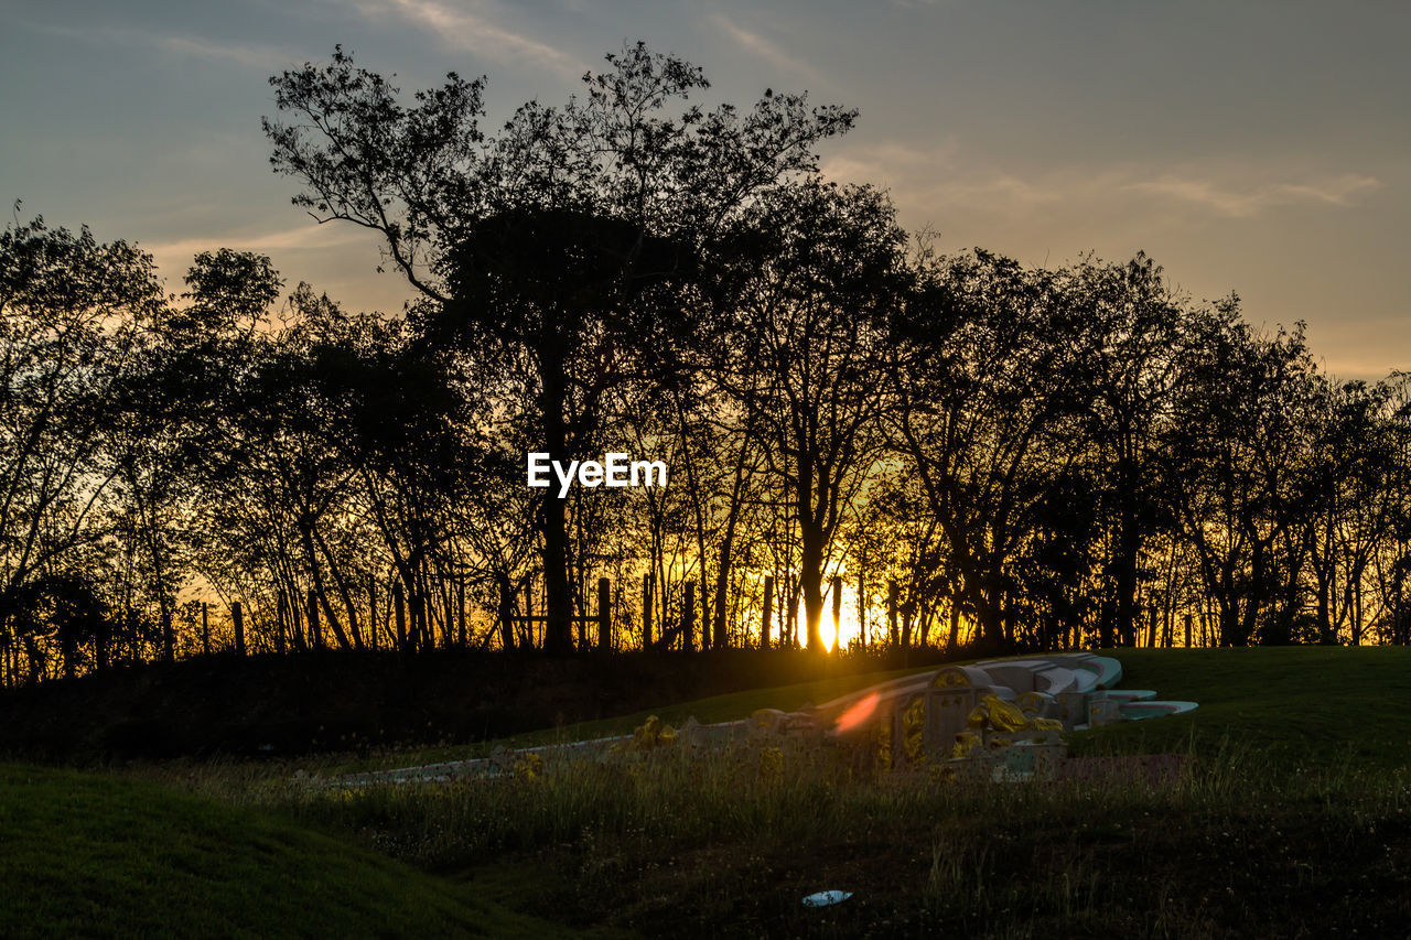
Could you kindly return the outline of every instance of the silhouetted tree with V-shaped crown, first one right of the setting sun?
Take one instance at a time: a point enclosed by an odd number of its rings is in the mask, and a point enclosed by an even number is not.
[[[991,645],[1015,641],[1016,556],[1086,450],[1088,316],[1051,271],[985,251],[930,260],[897,319],[897,447]]]

